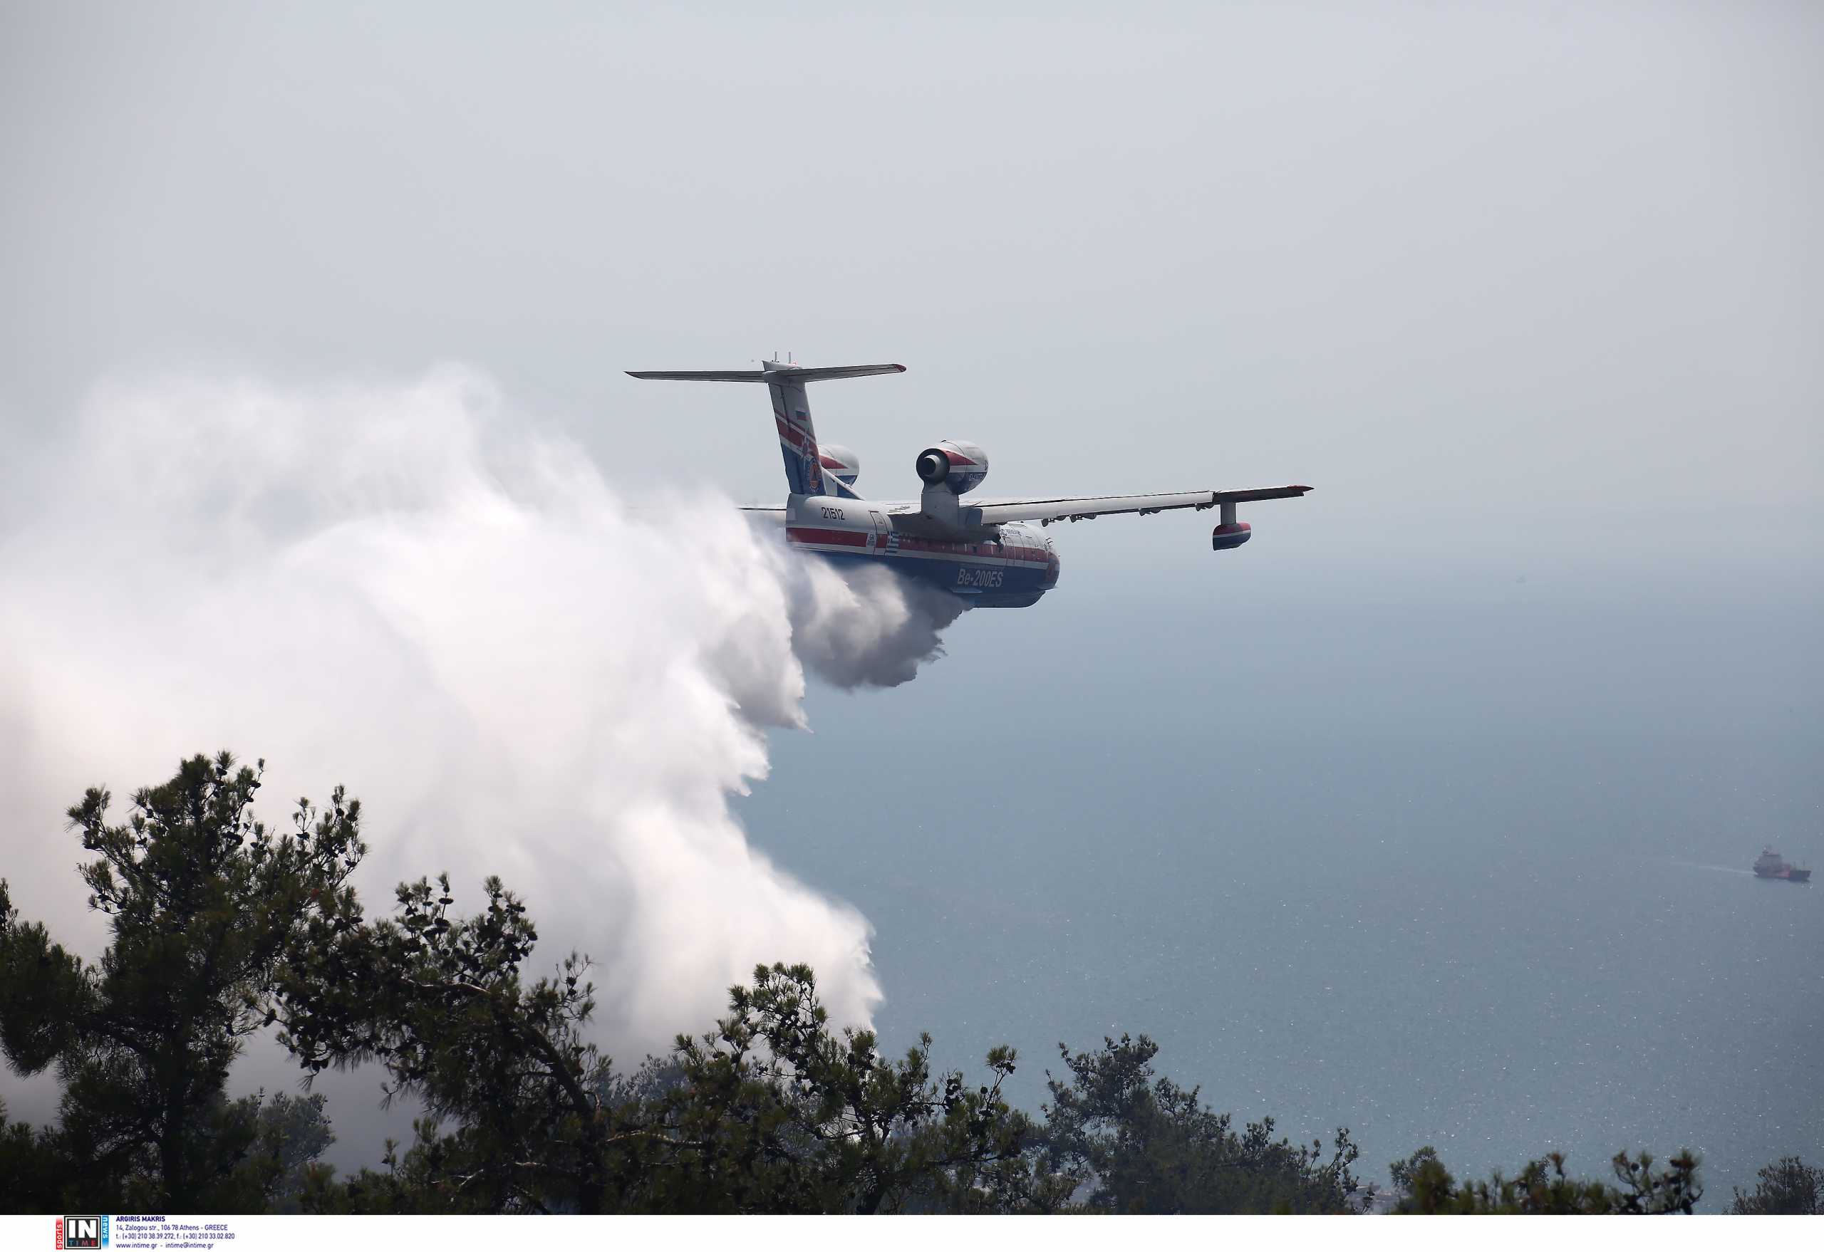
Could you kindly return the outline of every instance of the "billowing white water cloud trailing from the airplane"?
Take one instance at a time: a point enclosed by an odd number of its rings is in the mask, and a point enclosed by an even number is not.
[[[835,1021],[866,1022],[866,920],[770,864],[728,800],[766,775],[762,727],[803,723],[799,658],[905,682],[954,609],[806,567],[728,501],[631,510],[527,430],[460,368],[115,386],[0,472],[26,501],[0,536],[15,900],[98,949],[64,806],[230,747],[270,762],[270,822],[334,782],[363,798],[372,911],[399,878],[449,869],[474,902],[500,873],[544,959],[598,962],[617,1055],[704,1028],[762,960],[810,962]]]

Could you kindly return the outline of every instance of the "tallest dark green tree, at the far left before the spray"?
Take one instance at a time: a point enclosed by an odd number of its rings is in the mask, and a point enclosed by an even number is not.
[[[0,1050],[20,1073],[57,1064],[53,1146],[117,1206],[230,1208],[244,1194],[257,1117],[226,1101],[228,1066],[274,1021],[281,970],[361,858],[359,804],[339,787],[321,815],[301,800],[277,836],[252,816],[257,791],[259,773],[223,753],[133,793],[120,826],[104,789],[69,809],[97,853],[89,906],[109,917],[93,966],[22,922],[0,884]]]

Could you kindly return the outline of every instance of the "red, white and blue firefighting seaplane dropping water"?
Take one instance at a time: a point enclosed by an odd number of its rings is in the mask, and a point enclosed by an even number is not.
[[[784,527],[786,543],[832,559],[886,561],[910,578],[963,596],[970,607],[1025,609],[1058,585],[1058,554],[1036,527],[1104,514],[1140,516],[1167,508],[1222,508],[1211,532],[1215,550],[1238,549],[1251,530],[1235,519],[1235,505],[1302,496],[1310,487],[1167,492],[1162,496],[1052,496],[981,499],[963,496],[989,476],[989,457],[965,439],[939,439],[917,454],[925,481],[916,501],[863,499],[855,492],[861,461],[845,446],[817,443],[806,383],[905,374],[903,364],[803,364],[762,361],[759,370],[627,370],[637,379],[686,383],[764,383],[773,397],[773,423],[786,457],[790,494],[781,508],[750,508]]]

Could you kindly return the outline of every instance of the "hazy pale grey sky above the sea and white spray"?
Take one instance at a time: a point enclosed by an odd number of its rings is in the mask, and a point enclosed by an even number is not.
[[[990,492],[1308,481],[1299,547],[1819,547],[1817,5],[4,24],[7,437],[100,375],[461,359],[772,499],[759,397],[622,370],[790,350],[910,366],[814,392],[868,494],[956,434]]]

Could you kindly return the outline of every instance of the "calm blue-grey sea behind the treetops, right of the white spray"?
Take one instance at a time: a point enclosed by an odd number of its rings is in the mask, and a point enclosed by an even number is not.
[[[1824,889],[1746,873],[1824,869],[1809,609],[1164,600],[970,614],[773,736],[744,818],[872,918],[888,1044],[1012,1042],[1036,1106],[1058,1041],[1147,1031],[1383,1183],[1693,1146],[1716,1208],[1824,1161]]]

